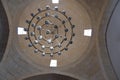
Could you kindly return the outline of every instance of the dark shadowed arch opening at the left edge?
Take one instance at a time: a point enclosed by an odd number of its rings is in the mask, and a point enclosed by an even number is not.
[[[0,0],[0,62],[6,50],[9,37],[9,24],[5,9]]]

